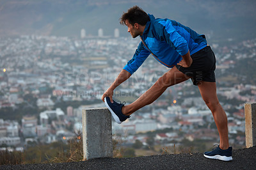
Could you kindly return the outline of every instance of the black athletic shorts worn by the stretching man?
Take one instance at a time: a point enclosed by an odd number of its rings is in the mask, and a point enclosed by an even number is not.
[[[188,68],[175,65],[180,72],[188,75],[195,86],[201,81],[216,82],[214,70],[216,68],[216,58],[210,46],[198,50],[191,55],[193,63]]]

